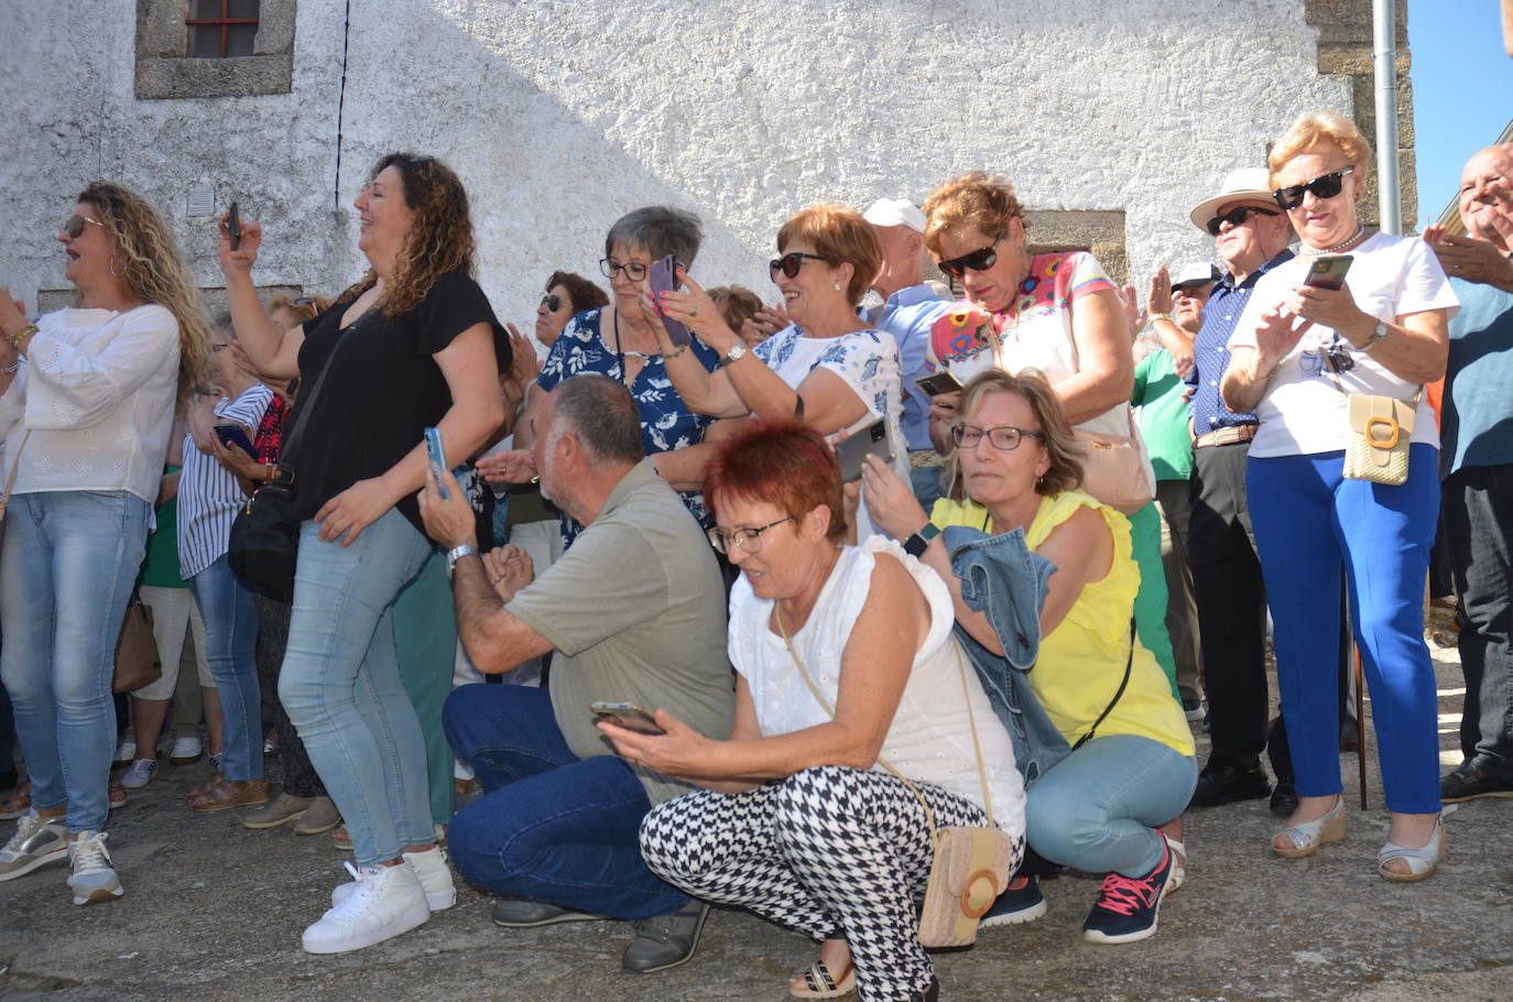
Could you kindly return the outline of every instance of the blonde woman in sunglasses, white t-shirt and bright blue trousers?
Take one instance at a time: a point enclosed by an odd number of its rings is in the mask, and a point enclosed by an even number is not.
[[[1369,162],[1365,136],[1334,114],[1298,118],[1271,148],[1272,195],[1301,253],[1256,285],[1230,338],[1219,391],[1230,409],[1260,418],[1247,484],[1298,789],[1272,851],[1306,857],[1345,834],[1334,651],[1318,643],[1339,630],[1334,595],[1344,569],[1392,811],[1377,869],[1389,881],[1416,881],[1443,857],[1434,667],[1422,611],[1439,513],[1439,434],[1424,383],[1445,372],[1459,303],[1422,239],[1360,222],[1356,203]],[[1324,254],[1350,257],[1336,288],[1310,282]],[[1375,395],[1372,413],[1393,412],[1368,431],[1410,442],[1403,483],[1344,475],[1353,395]]]

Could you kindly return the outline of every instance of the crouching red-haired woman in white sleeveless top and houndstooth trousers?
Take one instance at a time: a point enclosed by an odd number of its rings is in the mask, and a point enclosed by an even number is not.
[[[840,469],[812,428],[747,427],[704,486],[711,540],[743,571],[735,725],[722,742],[663,711],[660,737],[601,723],[629,761],[707,787],[646,816],[642,855],[690,895],[822,941],[790,982],[799,997],[855,984],[862,999],[934,1000],[915,931],[932,858],[921,801],[935,825],[996,823],[1011,872],[1024,852],[1014,749],[952,637],[950,592],[884,536],[843,545]]]

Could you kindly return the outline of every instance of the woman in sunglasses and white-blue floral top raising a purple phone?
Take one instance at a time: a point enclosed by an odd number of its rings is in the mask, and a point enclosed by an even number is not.
[[[856,315],[882,266],[871,224],[846,206],[812,206],[778,230],[778,254],[767,271],[793,324],[756,348],[746,348],[710,294],[687,275],[684,291],[648,301],[649,310],[697,335],[691,345],[678,348],[657,327],[678,392],[699,413],[797,418],[820,434],[882,421],[899,471],[908,471],[899,431],[899,345]],[[688,359],[705,345],[719,356],[714,374]],[[873,531],[865,501],[856,521],[858,537]]]

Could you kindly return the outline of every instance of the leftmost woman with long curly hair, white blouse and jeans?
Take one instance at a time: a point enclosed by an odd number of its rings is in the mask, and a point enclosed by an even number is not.
[[[32,324],[0,289],[0,436],[14,490],[0,675],[32,780],[0,879],[68,860],[82,905],[121,896],[100,831],[115,642],[176,403],[206,372],[209,336],[172,232],[141,195],[89,185],[57,239],[80,309]]]

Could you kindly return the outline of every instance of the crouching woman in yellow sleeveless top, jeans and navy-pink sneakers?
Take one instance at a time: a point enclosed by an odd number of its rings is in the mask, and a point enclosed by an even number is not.
[[[1056,565],[1029,681],[1070,745],[1095,723],[1097,733],[1027,790],[1026,834],[1047,860],[1108,873],[1082,926],[1088,940],[1142,940],[1156,931],[1176,869],[1157,825],[1186,808],[1198,764],[1165,674],[1150,651],[1132,642],[1139,572],[1129,524],[1076,489],[1077,447],[1038,372],[977,375],[962,392],[961,415],[952,436],[968,501],[941,499],[927,519],[908,484],[882,463],[864,471],[862,492],[878,524],[909,540],[905,548],[921,552],[920,560],[946,580],[956,622],[997,654],[997,631],[962,602],[950,554],[930,527],[1024,530],[1026,545]],[[1129,683],[1120,692],[1126,671]],[[985,923],[1026,922],[1044,911],[1030,878],[1011,885]]]

